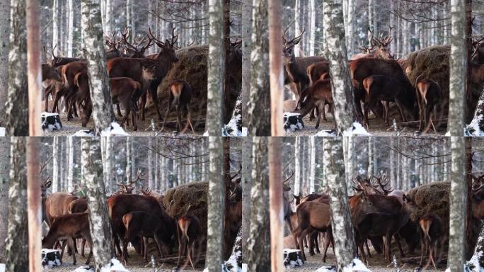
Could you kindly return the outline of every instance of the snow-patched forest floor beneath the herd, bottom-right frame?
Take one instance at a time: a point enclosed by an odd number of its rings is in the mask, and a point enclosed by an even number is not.
[[[321,247],[321,249],[323,249]],[[323,263],[322,261],[322,254],[317,254],[314,256],[309,256],[309,249],[305,249],[304,251],[306,253],[306,258],[307,261],[304,263],[304,266],[302,267],[296,267],[296,268],[287,268],[286,271],[292,271],[292,272],[309,272],[309,271],[316,271],[316,269],[320,268],[321,266],[335,266],[336,265],[336,259],[335,255],[333,254],[333,249],[328,249],[328,256],[326,258],[326,262]],[[415,251],[417,252],[417,251]],[[415,268],[418,267],[418,261],[412,262],[412,263],[401,263],[401,258],[400,258],[400,253],[398,252],[398,249],[394,249],[392,254],[396,255],[396,259],[398,262],[398,267],[401,268],[399,271],[401,272],[412,272],[415,270]],[[419,253],[415,253],[412,256],[420,256]],[[427,261],[425,258],[424,261]],[[388,262],[385,261],[383,254],[377,254],[374,249],[371,248],[371,258],[368,259],[368,268],[369,270],[373,272],[396,272],[396,268],[393,267],[393,264],[388,266]],[[432,266],[427,268],[425,271],[445,271],[446,265],[445,263],[442,264],[442,262],[437,266],[437,270],[434,270]],[[422,270],[423,271],[423,270]]]

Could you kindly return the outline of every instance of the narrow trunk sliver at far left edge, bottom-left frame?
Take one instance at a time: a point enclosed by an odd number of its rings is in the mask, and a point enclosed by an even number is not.
[[[7,237],[8,218],[8,180],[10,171],[10,138],[1,137],[0,139],[0,263],[5,262],[5,239]]]

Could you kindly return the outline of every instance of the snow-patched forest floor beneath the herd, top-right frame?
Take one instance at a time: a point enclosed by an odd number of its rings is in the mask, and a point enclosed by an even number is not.
[[[390,111],[390,124],[392,124],[393,118],[397,121],[397,132],[400,136],[415,136],[418,130],[418,124],[416,123],[413,126],[401,126],[401,117],[396,111]],[[316,133],[320,132],[321,130],[334,130],[335,123],[333,121],[333,115],[331,113],[326,113],[327,121],[323,120],[323,116],[321,115],[321,122],[319,123],[319,128],[316,130],[314,128],[316,126],[316,118],[314,120],[309,120],[309,114],[304,116],[304,128],[302,130],[296,130],[294,132],[287,131],[285,132],[285,136],[312,136]],[[375,115],[372,113],[369,114],[369,125],[370,128],[367,131],[372,136],[386,136],[386,137],[395,137],[397,136],[397,132],[393,130],[393,128],[388,127],[385,123],[383,118],[376,118]],[[445,125],[442,125],[439,130],[437,130],[437,134],[431,130],[430,135],[444,135],[445,134]]]

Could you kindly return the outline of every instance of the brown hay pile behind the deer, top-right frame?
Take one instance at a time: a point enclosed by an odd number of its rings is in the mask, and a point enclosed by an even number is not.
[[[407,57],[407,73],[410,83],[420,74],[424,79],[436,81],[442,89],[442,100],[437,107],[437,117],[446,118],[449,113],[449,45],[435,45],[412,52]]]

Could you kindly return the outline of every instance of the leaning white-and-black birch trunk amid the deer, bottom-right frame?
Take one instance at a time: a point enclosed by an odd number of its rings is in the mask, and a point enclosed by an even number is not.
[[[324,163],[328,169],[326,178],[338,271],[342,271],[345,266],[350,264],[356,253],[355,234],[353,233],[350,207],[347,203],[345,162],[341,144],[340,137],[330,137],[324,143]]]

